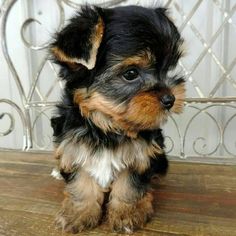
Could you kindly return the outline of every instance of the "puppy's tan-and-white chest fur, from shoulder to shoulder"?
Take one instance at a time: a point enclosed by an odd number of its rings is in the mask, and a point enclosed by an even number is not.
[[[107,188],[126,168],[146,170],[150,165],[149,157],[153,156],[154,151],[159,152],[160,148],[137,139],[114,149],[101,147],[93,150],[85,142],[75,143],[68,139],[59,145],[58,150],[63,152],[61,166],[78,166],[88,172],[101,187]]]

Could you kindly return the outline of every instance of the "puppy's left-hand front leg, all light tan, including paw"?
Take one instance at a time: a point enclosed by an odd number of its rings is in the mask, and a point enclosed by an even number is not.
[[[97,226],[102,216],[103,200],[103,189],[87,172],[79,170],[66,185],[62,209],[56,217],[57,227],[77,233]]]

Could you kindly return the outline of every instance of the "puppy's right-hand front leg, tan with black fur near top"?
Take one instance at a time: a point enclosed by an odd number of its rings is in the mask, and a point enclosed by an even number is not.
[[[124,171],[113,182],[107,219],[114,231],[131,233],[150,219],[152,194],[137,172]]]

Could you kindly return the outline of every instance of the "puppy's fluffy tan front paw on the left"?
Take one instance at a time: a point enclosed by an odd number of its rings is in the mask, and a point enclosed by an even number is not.
[[[71,202],[63,204],[61,211],[57,214],[55,224],[58,229],[65,232],[78,233],[91,229],[99,224],[101,218],[101,207],[99,204],[93,206],[75,206]]]

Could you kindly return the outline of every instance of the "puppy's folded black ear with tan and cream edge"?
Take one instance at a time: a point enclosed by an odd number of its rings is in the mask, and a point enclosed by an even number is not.
[[[83,65],[88,70],[95,67],[98,48],[104,33],[100,8],[83,7],[69,24],[56,34],[51,52],[59,63],[73,67]]]

